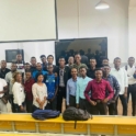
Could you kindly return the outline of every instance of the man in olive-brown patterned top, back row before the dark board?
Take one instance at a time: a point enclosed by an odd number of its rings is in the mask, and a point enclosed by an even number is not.
[[[87,65],[86,64],[81,64],[81,56],[80,54],[76,54],[75,55],[75,64],[73,64],[73,68],[77,68],[78,69],[78,76],[80,76],[80,67],[86,67],[86,69],[88,69]]]

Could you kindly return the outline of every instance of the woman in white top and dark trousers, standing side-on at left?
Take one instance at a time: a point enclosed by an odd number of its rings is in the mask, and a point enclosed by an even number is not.
[[[13,103],[15,106],[16,113],[24,112],[24,101],[25,101],[25,93],[24,93],[24,87],[22,84],[22,75],[20,72],[14,72],[13,75]]]

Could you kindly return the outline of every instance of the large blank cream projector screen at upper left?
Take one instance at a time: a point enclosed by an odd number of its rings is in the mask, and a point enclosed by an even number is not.
[[[55,0],[0,0],[0,42],[57,39]]]

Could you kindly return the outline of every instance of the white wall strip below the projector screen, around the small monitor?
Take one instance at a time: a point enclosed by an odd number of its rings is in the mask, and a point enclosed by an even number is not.
[[[5,59],[5,49],[24,49],[24,60],[30,63],[30,58],[35,56],[37,61],[41,63],[41,55],[54,55],[54,42],[29,42],[29,43],[7,43],[0,44],[0,60]]]

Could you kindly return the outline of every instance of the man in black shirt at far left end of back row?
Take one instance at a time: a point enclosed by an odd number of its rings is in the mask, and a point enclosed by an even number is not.
[[[0,69],[0,78],[4,79],[5,75],[10,71],[10,69],[7,68],[7,61],[1,60],[1,69]]]

